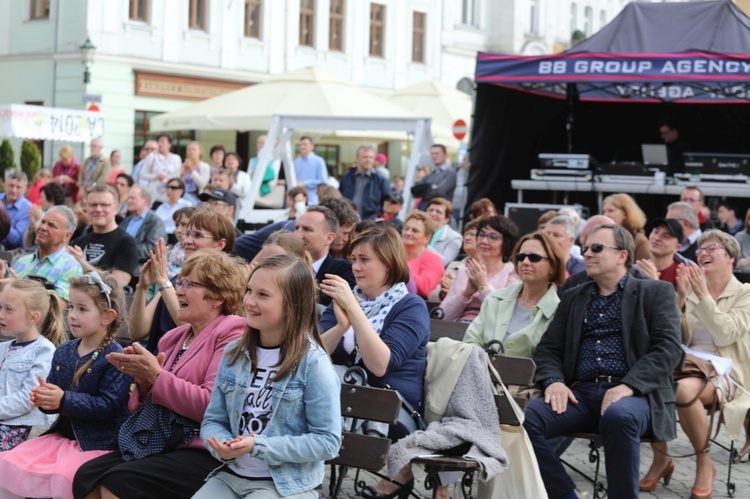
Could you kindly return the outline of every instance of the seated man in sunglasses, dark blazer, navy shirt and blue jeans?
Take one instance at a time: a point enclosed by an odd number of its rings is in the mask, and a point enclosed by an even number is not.
[[[550,497],[575,484],[550,438],[596,432],[604,442],[609,495],[638,497],[640,439],[675,438],[672,371],[683,356],[674,288],[633,278],[633,236],[593,227],[581,248],[592,281],[566,292],[534,354],[544,398],[524,427]]]

